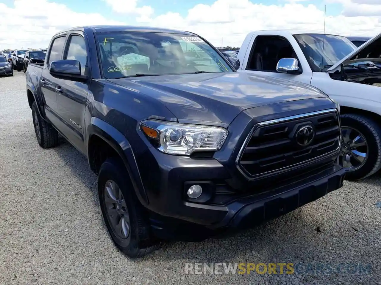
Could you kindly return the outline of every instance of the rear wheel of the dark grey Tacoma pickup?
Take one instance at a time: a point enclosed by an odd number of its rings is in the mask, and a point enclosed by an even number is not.
[[[44,149],[57,146],[58,131],[50,123],[41,118],[35,101],[32,104],[32,118],[38,144]]]

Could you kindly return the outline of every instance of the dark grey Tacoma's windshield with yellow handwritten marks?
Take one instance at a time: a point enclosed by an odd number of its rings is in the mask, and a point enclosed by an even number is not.
[[[213,47],[197,36],[102,32],[97,38],[105,78],[233,71]]]

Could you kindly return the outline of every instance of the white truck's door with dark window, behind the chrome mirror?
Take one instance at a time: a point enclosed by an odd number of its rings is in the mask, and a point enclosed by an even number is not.
[[[240,72],[311,83],[312,70],[296,40],[280,35],[256,35],[250,41]],[[277,63],[285,57],[296,58],[301,74],[279,73]],[[299,60],[300,59],[300,60]]]

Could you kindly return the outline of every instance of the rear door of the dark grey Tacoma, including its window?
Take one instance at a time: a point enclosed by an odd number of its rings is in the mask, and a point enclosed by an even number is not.
[[[54,60],[62,59],[64,45],[66,41],[66,35],[59,35],[53,39],[50,45],[50,51],[48,56],[46,57],[46,64],[43,67],[41,78],[40,78],[40,86],[41,93],[45,100],[45,114],[46,118],[50,120],[50,122],[59,128],[61,125],[59,116],[58,116],[58,106],[57,106],[57,78],[54,78],[49,71],[50,63]]]

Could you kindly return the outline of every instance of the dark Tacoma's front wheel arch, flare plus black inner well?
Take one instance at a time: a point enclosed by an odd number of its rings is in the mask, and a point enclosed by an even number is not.
[[[92,117],[87,127],[87,138],[87,157],[91,170],[98,174],[102,162],[108,158],[107,155],[117,155],[126,167],[139,201],[143,205],[148,205],[149,201],[138,165],[131,145],[125,136],[109,123]]]

